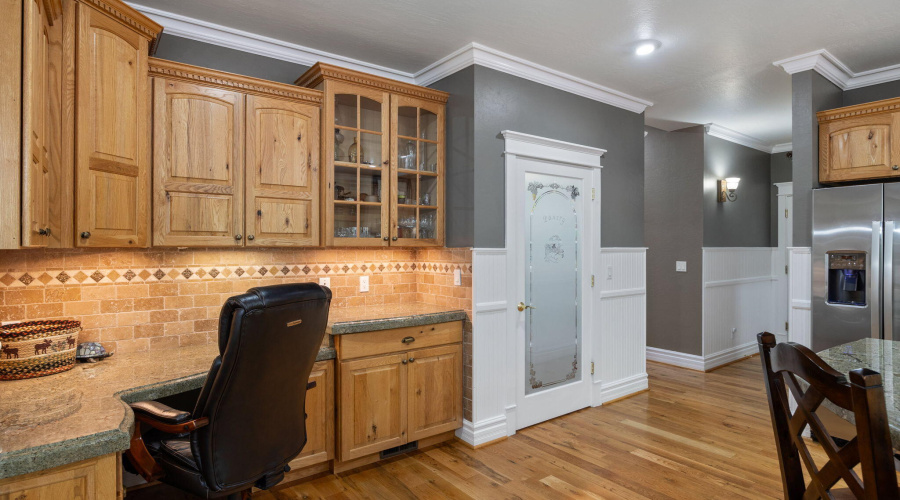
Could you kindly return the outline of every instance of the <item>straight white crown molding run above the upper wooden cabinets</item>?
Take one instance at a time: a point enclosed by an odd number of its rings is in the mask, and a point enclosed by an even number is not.
[[[236,30],[227,26],[213,24],[180,14],[154,9],[135,3],[128,3],[133,9],[149,17],[165,28],[170,35],[189,38],[198,42],[211,43],[229,49],[250,52],[273,59],[280,59],[304,66],[312,66],[317,62],[336,64],[373,75],[392,78],[406,83],[414,83],[412,73],[399,71],[377,64],[304,47],[293,43],[276,40],[247,31]],[[299,75],[297,75],[299,76]]]

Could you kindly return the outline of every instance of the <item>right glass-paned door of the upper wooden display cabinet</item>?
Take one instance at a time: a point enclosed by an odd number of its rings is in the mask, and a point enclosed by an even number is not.
[[[391,96],[391,241],[444,244],[444,106]]]

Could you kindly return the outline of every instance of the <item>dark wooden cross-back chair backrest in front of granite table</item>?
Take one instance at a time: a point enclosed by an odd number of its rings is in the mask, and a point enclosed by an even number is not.
[[[850,372],[848,382],[844,375],[800,344],[776,345],[775,336],[768,332],[757,335],[757,342],[781,463],[784,497],[789,500],[831,498],[829,490],[843,479],[856,498],[900,498],[881,375],[860,368]],[[806,384],[801,384],[798,378]],[[788,390],[797,401],[797,411],[793,414]],[[856,437],[844,446],[835,443],[815,413],[825,399],[854,413]],[[828,462],[823,465],[815,463],[802,437],[807,425],[828,455]],[[862,480],[853,470],[860,464]],[[810,476],[809,485],[803,479],[803,466]]]

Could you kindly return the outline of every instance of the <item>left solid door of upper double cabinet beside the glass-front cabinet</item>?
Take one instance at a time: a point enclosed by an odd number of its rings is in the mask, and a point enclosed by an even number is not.
[[[240,246],[243,95],[153,80],[153,244]]]

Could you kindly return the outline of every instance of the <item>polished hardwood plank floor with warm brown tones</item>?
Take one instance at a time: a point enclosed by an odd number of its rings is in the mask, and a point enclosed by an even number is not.
[[[450,442],[254,498],[782,498],[758,357],[648,372],[648,392],[479,450]]]

